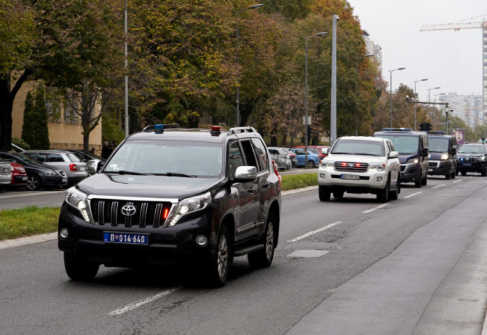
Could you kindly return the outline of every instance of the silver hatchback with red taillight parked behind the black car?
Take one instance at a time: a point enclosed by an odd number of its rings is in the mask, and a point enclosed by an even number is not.
[[[88,177],[86,163],[74,153],[66,150],[26,150],[24,155],[32,157],[38,162],[56,166],[63,170],[67,176],[67,185],[74,185]]]

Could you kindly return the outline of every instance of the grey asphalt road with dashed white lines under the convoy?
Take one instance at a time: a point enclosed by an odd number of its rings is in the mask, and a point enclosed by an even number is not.
[[[236,258],[216,290],[169,268],[76,283],[56,241],[0,250],[0,334],[481,334],[486,198],[473,175],[386,204],[285,195],[273,265]]]

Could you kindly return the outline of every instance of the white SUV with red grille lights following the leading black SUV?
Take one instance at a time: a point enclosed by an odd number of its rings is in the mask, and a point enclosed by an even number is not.
[[[319,199],[329,201],[331,193],[342,198],[344,192],[376,194],[384,203],[397,199],[401,192],[398,157],[389,139],[340,137],[319,164]]]

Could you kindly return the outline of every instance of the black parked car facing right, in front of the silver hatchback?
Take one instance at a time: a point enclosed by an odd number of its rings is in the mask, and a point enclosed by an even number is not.
[[[0,151],[0,159],[4,162],[15,162],[24,166],[27,172],[27,189],[52,189],[67,185],[67,176],[63,170],[55,166],[42,164],[22,153],[6,153]]]

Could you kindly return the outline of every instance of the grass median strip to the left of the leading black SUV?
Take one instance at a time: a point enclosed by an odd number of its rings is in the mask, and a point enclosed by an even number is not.
[[[0,210],[0,240],[52,233],[58,228],[58,207],[29,206]]]

